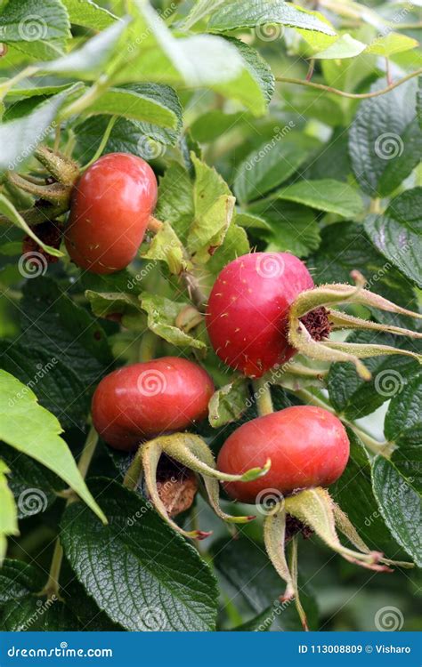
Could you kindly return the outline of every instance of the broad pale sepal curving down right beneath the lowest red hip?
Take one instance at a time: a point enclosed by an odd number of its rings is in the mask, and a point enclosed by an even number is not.
[[[367,550],[366,546],[364,551],[355,551],[340,542],[336,531],[335,503],[329,492],[321,486],[289,496],[285,499],[285,508],[288,514],[310,526],[323,542],[344,559],[377,572],[389,570],[385,565],[380,565],[383,560],[382,553]]]

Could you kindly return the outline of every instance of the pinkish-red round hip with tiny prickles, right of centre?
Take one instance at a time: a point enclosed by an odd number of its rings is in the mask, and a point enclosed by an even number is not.
[[[288,308],[312,289],[304,263],[289,253],[251,253],[221,271],[207,305],[207,330],[224,363],[261,377],[295,354],[288,344]]]

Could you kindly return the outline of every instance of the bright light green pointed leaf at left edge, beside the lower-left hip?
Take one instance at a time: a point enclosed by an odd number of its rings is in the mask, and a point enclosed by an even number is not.
[[[106,520],[89,493],[69,447],[60,437],[61,425],[37,403],[36,395],[11,374],[0,370],[0,439],[53,470]]]

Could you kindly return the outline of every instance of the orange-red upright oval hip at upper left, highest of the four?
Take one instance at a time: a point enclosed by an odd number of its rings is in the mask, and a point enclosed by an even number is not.
[[[72,194],[66,247],[77,266],[113,273],[134,259],[157,202],[150,165],[110,153],[88,167]]]

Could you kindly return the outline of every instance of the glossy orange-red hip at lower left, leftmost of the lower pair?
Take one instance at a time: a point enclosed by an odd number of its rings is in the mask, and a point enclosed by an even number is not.
[[[214,385],[200,366],[163,357],[125,366],[93,395],[93,425],[109,445],[129,451],[142,440],[187,429],[207,416]]]

